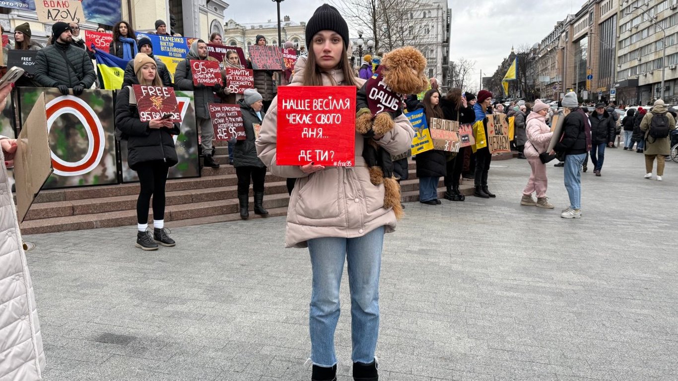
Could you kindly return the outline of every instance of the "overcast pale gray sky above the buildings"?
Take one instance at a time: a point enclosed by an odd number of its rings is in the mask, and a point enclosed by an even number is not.
[[[226,20],[266,22],[275,20],[276,3],[271,0],[226,0]],[[281,17],[289,15],[295,22],[308,21],[317,7],[326,0],[284,0],[280,3]],[[509,56],[511,45],[519,46],[541,41],[553,26],[569,13],[576,13],[585,0],[519,1],[494,0],[490,3],[448,0],[452,8],[452,60],[460,57],[475,60],[473,81],[480,71],[492,75],[498,64]],[[351,37],[357,37],[351,31]]]

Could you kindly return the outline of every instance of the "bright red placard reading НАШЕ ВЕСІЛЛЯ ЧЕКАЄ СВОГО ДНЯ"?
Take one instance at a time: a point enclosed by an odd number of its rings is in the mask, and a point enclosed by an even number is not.
[[[278,87],[277,165],[355,165],[353,86]]]

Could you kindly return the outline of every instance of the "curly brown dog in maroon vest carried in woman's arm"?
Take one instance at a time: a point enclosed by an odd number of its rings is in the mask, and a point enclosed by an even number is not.
[[[381,65],[358,90],[355,129],[365,138],[363,158],[370,168],[372,184],[384,184],[384,207],[392,207],[396,218],[403,216],[400,186],[393,176],[391,154],[372,139],[391,131],[403,113],[403,97],[418,94],[428,86],[424,75],[426,58],[411,46],[400,47],[384,56]]]

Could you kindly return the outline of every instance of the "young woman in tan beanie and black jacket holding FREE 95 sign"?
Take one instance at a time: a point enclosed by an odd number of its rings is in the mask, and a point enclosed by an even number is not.
[[[134,57],[134,72],[140,85],[162,86],[155,60],[148,54]],[[142,122],[136,104],[129,103],[130,87],[118,92],[115,106],[115,126],[127,135],[127,163],[139,176],[141,184],[136,201],[138,233],[136,247],[157,250],[158,243],[174,246],[165,229],[165,182],[167,170],[178,163],[173,135],[179,134],[179,125],[169,119]],[[147,233],[148,207],[153,196],[153,236]]]

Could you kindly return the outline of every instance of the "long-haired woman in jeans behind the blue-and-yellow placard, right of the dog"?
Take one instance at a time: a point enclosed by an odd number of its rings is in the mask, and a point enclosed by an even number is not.
[[[428,126],[431,126],[431,118],[443,119],[445,117],[440,107],[440,92],[437,89],[430,89],[424,94],[424,99],[417,106],[417,109],[420,108],[424,109]],[[438,182],[446,173],[445,151],[431,150],[418,153],[414,160],[417,163],[417,178],[419,178],[419,202],[440,205]]]

